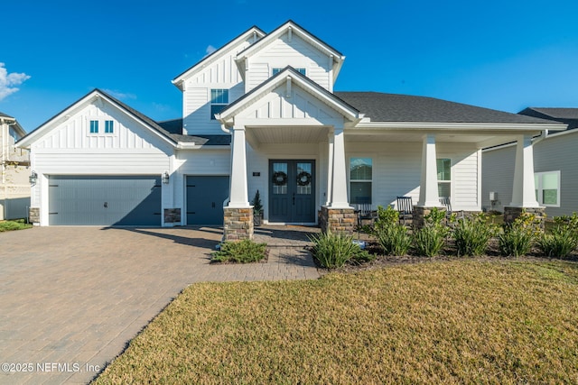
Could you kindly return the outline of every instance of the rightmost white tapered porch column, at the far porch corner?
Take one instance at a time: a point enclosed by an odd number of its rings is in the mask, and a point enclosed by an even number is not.
[[[534,184],[534,148],[531,135],[517,138],[512,207],[539,207]]]

